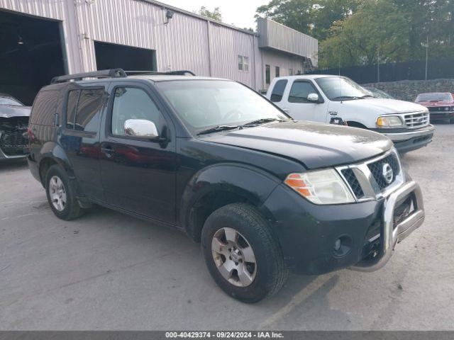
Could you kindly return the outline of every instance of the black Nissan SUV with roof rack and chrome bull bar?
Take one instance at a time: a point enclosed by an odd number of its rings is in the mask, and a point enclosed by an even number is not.
[[[112,69],[40,91],[28,162],[57,217],[96,203],[181,229],[243,302],[289,270],[376,270],[423,222],[387,137],[297,122],[236,81],[177,73]]]

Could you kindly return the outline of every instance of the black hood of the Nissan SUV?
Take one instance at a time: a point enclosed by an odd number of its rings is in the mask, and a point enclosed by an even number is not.
[[[377,132],[313,122],[269,123],[199,139],[282,155],[307,169],[358,162],[392,147],[392,142]]]

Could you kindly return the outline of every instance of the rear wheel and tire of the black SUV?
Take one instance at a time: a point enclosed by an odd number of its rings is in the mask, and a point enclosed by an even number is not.
[[[82,215],[82,208],[75,196],[65,171],[57,164],[50,166],[45,178],[45,192],[50,209],[58,218],[69,221]]]

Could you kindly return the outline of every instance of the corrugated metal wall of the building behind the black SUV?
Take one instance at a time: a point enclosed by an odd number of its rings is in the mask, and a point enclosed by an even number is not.
[[[189,69],[265,87],[262,58],[268,52],[259,48],[257,35],[184,11],[175,11],[166,25],[166,8],[154,1],[0,0],[0,8],[61,21],[70,73],[96,69],[94,41],[99,41],[155,50],[159,71]],[[249,72],[238,70],[238,55],[249,57]],[[268,58],[283,69],[294,64],[289,55]]]

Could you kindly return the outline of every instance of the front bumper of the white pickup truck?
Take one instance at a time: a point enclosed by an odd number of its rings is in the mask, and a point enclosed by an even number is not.
[[[425,128],[412,131],[405,130],[404,132],[383,133],[383,135],[394,142],[394,147],[399,152],[409,152],[425,147],[428,143],[432,142],[433,132],[435,132],[435,127],[428,125]]]

